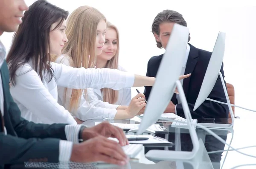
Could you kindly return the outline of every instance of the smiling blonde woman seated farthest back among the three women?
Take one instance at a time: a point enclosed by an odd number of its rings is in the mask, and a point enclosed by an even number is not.
[[[107,22],[107,30],[105,34],[105,44],[102,53],[97,55],[97,68],[111,68],[125,71],[118,65],[119,57],[119,33],[115,25]],[[94,94],[99,100],[109,102],[111,104],[119,104],[128,106],[131,102],[131,89],[113,90],[103,88],[102,90],[94,89]]]

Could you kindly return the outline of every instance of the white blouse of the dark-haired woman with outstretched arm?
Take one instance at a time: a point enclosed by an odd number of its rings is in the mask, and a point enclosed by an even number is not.
[[[51,62],[54,77],[48,82],[38,76],[32,62],[26,63],[16,71],[16,85],[10,92],[21,111],[21,116],[35,123],[76,124],[73,116],[58,104],[58,88],[68,87],[100,89],[104,87],[120,90],[134,84],[134,74],[113,69],[73,68]]]

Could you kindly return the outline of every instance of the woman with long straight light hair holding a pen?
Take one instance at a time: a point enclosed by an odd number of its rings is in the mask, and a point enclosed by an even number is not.
[[[53,56],[53,61],[75,68],[94,68],[96,56],[102,53],[105,43],[105,31],[106,19],[102,13],[90,6],[77,8],[67,20],[66,34],[69,41],[62,50],[65,55]],[[117,59],[113,60],[117,62]],[[143,111],[144,98],[140,93],[132,100],[131,97],[128,98],[131,100],[129,106],[120,106],[99,100],[91,88],[77,90],[58,87],[58,103],[83,121],[133,118],[141,113],[140,110]]]

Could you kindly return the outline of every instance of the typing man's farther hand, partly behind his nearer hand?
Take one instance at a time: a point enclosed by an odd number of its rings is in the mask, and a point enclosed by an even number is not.
[[[83,131],[83,140],[88,140],[97,136],[104,136],[105,138],[117,138],[121,146],[129,144],[123,130],[119,127],[113,126],[107,121],[104,121],[94,127],[85,128]]]

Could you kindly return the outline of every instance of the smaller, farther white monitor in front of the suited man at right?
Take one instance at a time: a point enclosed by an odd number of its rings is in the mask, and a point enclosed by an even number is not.
[[[204,80],[201,86],[201,89],[198,94],[198,98],[195,102],[194,111],[205,101],[209,100],[207,98],[209,94],[212,91],[212,88],[214,87],[216,80],[218,79],[218,76],[221,78],[222,87],[224,88],[224,93],[227,99],[227,103],[230,104],[230,100],[227,94],[227,88],[224,83],[224,79],[222,74],[220,73],[221,65],[224,58],[224,52],[225,52],[225,40],[226,40],[226,34],[224,32],[219,32],[218,37],[215,42],[215,46],[212,51],[211,58],[209,60],[209,64],[206,70],[206,73],[204,75]],[[215,101],[213,99],[210,99],[211,101]],[[230,105],[228,105],[230,109],[231,117],[234,119],[233,110]],[[214,123],[204,123],[203,124],[206,127],[212,127],[212,128],[229,128],[233,126],[233,120],[232,124],[214,124]]]

